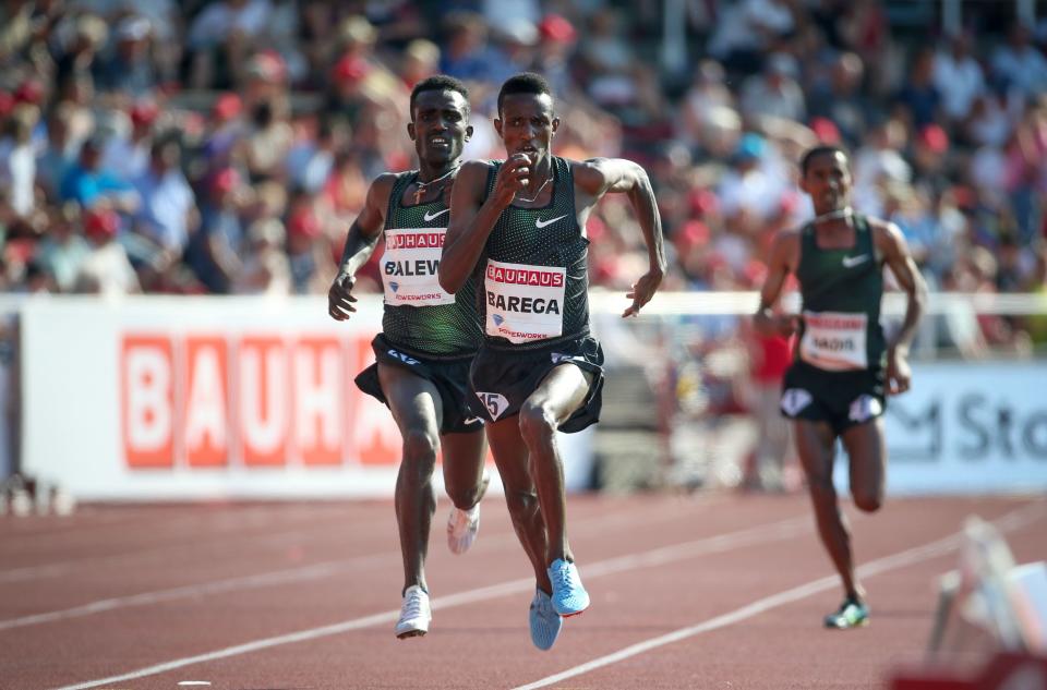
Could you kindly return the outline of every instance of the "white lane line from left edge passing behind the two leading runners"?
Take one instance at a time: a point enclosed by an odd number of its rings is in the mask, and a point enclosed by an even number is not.
[[[659,516],[658,518],[651,518],[648,516],[648,522],[654,519],[662,519],[662,517],[670,516]],[[678,519],[678,513],[675,518]],[[635,526],[637,524],[642,524],[642,520],[636,518],[629,518],[628,516],[618,516],[615,518],[602,518],[597,519],[592,518],[586,521],[586,524],[579,523],[579,529],[573,530],[574,534],[583,533],[587,528],[599,528],[601,530],[609,529],[613,523],[622,522],[628,525]],[[493,538],[492,538],[493,537]],[[497,535],[492,535],[488,537],[490,542],[494,542],[496,545],[495,548],[510,548],[516,545],[516,535],[512,533],[501,533]],[[727,540],[726,544],[734,544],[732,542],[735,538],[734,535],[722,535],[715,537],[709,537],[711,542],[719,544],[724,538]],[[744,540],[743,535],[737,536],[738,540]],[[748,537],[751,538],[751,537]],[[745,545],[745,541],[736,542],[736,545]],[[490,548],[490,546],[489,546]],[[673,547],[669,547],[672,549]],[[239,592],[245,589],[258,589],[265,586],[275,586],[279,584],[288,584],[292,582],[302,582],[311,580],[321,580],[324,578],[330,578],[339,574],[344,574],[350,571],[361,570],[363,568],[369,568],[372,566],[381,565],[383,562],[392,562],[394,559],[399,558],[398,553],[385,552],[382,554],[372,554],[370,556],[360,556],[356,558],[347,558],[339,560],[328,560],[318,564],[313,564],[310,566],[301,566],[298,568],[288,568],[285,570],[276,570],[272,572],[263,572],[257,574],[241,576],[236,578],[228,578],[225,580],[216,580],[213,582],[205,582],[201,584],[186,584],[182,586],[170,588],[166,590],[155,590],[152,592],[141,592],[139,594],[130,594],[127,596],[115,596],[110,598],[96,600],[94,602],[88,602],[86,604],[80,604],[76,606],[71,606],[69,608],[63,608],[60,610],[45,612],[40,614],[29,614],[27,616],[20,616],[17,618],[8,618],[0,619],[0,631],[10,630],[12,628],[24,628],[26,626],[38,626],[48,622],[56,622],[59,620],[68,620],[71,618],[81,618],[83,616],[93,616],[95,614],[101,614],[105,612],[116,610],[118,608],[128,608],[131,606],[146,606],[149,604],[158,604],[161,602],[170,602],[183,598],[196,598],[200,596],[210,595],[210,594],[222,594],[226,592]]]

